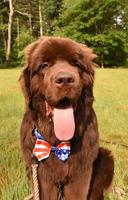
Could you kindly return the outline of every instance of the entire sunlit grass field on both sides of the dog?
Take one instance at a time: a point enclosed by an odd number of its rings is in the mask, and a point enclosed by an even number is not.
[[[24,110],[20,71],[0,70],[1,200],[23,200],[29,194],[19,144]],[[128,148],[121,145],[128,145],[128,69],[97,69],[94,96],[101,146],[111,149],[115,157],[113,190],[105,200],[128,200]]]

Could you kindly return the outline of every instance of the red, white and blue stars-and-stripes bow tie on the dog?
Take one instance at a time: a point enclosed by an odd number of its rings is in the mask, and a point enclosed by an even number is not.
[[[37,137],[33,154],[37,157],[38,161],[44,160],[49,157],[51,152],[54,152],[59,160],[65,161],[70,155],[70,142],[61,142],[57,147],[51,146],[44,140],[44,137],[39,133],[37,129],[34,130],[34,134]]]

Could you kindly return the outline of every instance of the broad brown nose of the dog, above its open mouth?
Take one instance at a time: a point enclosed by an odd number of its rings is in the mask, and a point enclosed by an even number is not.
[[[58,87],[62,87],[65,85],[72,85],[75,82],[75,78],[70,73],[60,72],[55,77],[55,84]]]

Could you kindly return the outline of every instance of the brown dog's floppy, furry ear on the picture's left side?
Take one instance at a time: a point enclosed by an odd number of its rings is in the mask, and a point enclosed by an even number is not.
[[[30,91],[30,83],[31,83],[31,63],[33,60],[33,53],[36,50],[39,44],[39,40],[33,42],[32,44],[28,45],[25,49],[25,56],[26,56],[26,68],[23,70],[22,74],[20,75],[19,82],[22,89],[22,92],[25,97],[25,103],[28,107],[30,98],[31,98],[31,91]]]

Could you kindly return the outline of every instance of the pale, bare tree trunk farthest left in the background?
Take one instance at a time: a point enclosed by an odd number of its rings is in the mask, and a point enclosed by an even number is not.
[[[13,20],[13,4],[12,0],[9,0],[8,41],[7,41],[7,52],[6,52],[7,62],[9,61],[11,54],[12,20]]]

